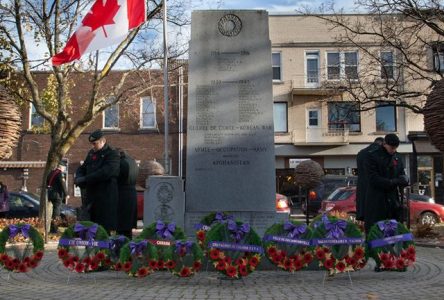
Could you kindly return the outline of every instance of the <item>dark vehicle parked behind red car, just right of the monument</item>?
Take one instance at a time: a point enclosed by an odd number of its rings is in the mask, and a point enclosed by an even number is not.
[[[302,201],[302,213],[307,214],[308,211],[308,214],[311,216],[317,215],[321,208],[322,200],[327,199],[338,187],[356,186],[357,180],[357,176],[325,175],[321,183],[308,192],[308,209],[305,201]]]

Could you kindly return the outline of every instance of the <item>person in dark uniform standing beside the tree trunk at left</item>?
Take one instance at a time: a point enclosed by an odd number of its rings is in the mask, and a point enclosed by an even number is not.
[[[66,191],[65,171],[66,165],[61,161],[57,165],[57,168],[49,172],[46,178],[48,200],[52,203],[51,233],[57,233],[55,221],[60,217],[60,206],[62,202],[65,202],[65,198],[68,195]]]

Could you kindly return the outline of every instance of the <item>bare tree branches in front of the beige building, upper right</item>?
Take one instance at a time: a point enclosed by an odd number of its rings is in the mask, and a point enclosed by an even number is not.
[[[326,81],[324,87],[347,92],[361,110],[395,104],[423,113],[427,96],[443,77],[442,1],[356,0],[355,5],[365,14],[346,14],[331,3],[316,14],[337,33],[338,48],[359,49],[361,55],[357,78]]]

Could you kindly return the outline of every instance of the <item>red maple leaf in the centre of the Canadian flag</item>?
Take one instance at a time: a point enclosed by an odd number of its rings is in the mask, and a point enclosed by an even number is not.
[[[91,31],[102,27],[105,37],[108,37],[104,26],[115,24],[113,19],[119,8],[117,0],[97,0],[83,19],[82,24],[91,27]]]

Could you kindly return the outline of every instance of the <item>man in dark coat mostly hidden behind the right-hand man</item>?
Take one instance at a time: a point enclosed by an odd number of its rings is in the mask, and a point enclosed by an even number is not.
[[[356,186],[356,220],[364,220],[364,202],[367,193],[368,177],[364,167],[368,153],[379,148],[384,142],[384,138],[378,137],[369,146],[365,147],[356,155],[356,166],[358,168],[358,182]]]

